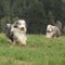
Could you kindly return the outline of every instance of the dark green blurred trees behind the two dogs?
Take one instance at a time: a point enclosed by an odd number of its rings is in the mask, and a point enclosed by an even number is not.
[[[24,18],[28,34],[44,34],[48,24],[65,25],[65,0],[0,0],[0,32],[6,23]]]

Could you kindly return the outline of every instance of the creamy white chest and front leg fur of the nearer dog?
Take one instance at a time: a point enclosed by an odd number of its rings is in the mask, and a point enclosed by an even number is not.
[[[21,30],[18,30],[17,28],[12,28],[11,31],[13,31],[14,34],[14,41],[20,42],[21,44],[26,44],[26,34],[22,32]]]

